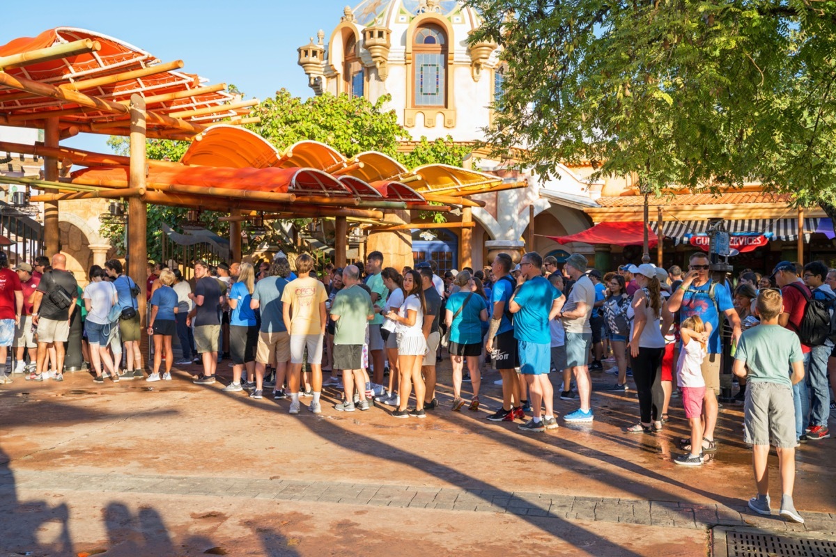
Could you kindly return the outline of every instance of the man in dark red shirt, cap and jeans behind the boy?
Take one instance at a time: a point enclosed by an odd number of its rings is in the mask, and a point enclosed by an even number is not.
[[[810,289],[796,274],[795,264],[792,261],[778,263],[772,272],[772,280],[781,288],[783,296],[783,311],[778,316],[778,324],[798,334],[804,317],[804,308],[807,306],[807,300],[812,296]],[[804,354],[804,375],[807,376],[810,372],[810,347],[802,342],[801,352]],[[787,373],[789,372],[788,370]],[[795,404],[795,437],[800,440],[810,419],[810,397],[806,379],[793,385],[793,403]]]

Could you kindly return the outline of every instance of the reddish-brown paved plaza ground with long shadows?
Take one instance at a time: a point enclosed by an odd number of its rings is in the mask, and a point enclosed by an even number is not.
[[[807,524],[747,512],[740,407],[723,409],[721,450],[694,469],[671,462],[687,434],[678,402],[665,432],[622,433],[635,392],[595,392],[594,424],[526,436],[484,419],[492,372],[479,413],[447,408],[442,367],[442,407],[397,420],[338,413],[333,391],[321,416],[293,417],[286,401],[198,387],[188,371],[3,386],[0,555],[705,555],[716,524],[836,533],[832,439],[798,454]],[[596,388],[611,379],[594,374]]]

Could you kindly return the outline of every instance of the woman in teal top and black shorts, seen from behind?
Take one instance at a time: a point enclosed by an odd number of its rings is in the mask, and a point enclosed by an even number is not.
[[[447,299],[444,320],[450,329],[447,351],[453,364],[453,410],[461,410],[465,404],[461,399],[461,370],[466,358],[473,387],[469,409],[476,412],[479,408],[479,387],[482,385],[479,356],[482,354],[482,322],[487,322],[487,304],[485,298],[474,291],[476,284],[470,272],[461,271],[455,283],[460,290]]]

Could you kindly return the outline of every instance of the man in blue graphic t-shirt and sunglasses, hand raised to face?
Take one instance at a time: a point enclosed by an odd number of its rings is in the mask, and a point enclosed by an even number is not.
[[[711,323],[711,336],[708,337],[707,354],[702,361],[702,377],[706,381],[706,395],[702,405],[702,415],[706,429],[703,433],[702,446],[704,450],[714,450],[714,428],[717,424],[717,413],[719,412],[717,395],[720,394],[720,359],[722,353],[720,313],[726,314],[726,319],[732,326],[732,343],[734,344],[737,344],[737,339],[740,338],[740,317],[737,316],[728,289],[709,280],[710,262],[706,253],[698,251],[693,254],[688,264],[688,272],[682,280],[682,284],[668,300],[668,311],[670,313],[679,311],[681,321],[685,321],[691,316],[699,316],[703,323]]]

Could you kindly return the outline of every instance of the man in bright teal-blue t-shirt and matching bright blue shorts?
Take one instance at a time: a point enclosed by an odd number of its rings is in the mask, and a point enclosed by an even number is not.
[[[528,252],[520,261],[517,291],[508,307],[514,314],[520,373],[531,392],[533,418],[518,426],[524,432],[558,428],[553,411],[554,390],[548,380],[548,371],[552,366],[552,337],[548,322],[558,315],[561,307],[563,294],[543,278],[543,258],[536,251]],[[546,407],[543,419],[540,418],[541,404]]]

